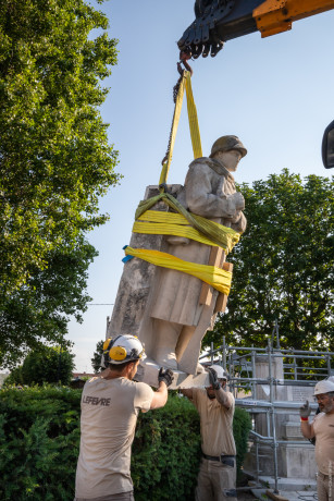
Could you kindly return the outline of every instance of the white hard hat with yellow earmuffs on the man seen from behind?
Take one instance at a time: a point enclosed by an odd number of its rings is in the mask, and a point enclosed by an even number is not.
[[[124,364],[125,362],[146,358],[144,346],[136,335],[123,334],[109,338],[103,343],[104,367],[108,364]]]

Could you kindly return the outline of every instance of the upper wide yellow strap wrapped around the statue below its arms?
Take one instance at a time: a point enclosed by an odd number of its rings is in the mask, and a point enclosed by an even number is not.
[[[194,218],[200,222],[200,216],[193,215]],[[211,221],[213,229],[215,229],[215,236],[220,235],[220,245],[217,240],[206,236],[202,232],[189,225],[189,221],[181,213],[162,212],[160,210],[147,210],[144,212],[133,225],[134,233],[147,233],[149,235],[174,235],[185,236],[195,240],[206,245],[223,247],[224,252],[228,254],[234,245],[239,240],[239,234],[231,228],[224,227],[217,222]]]

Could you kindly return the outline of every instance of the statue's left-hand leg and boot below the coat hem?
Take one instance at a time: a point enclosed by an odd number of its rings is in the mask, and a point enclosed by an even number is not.
[[[160,367],[177,370],[175,347],[182,326],[154,318],[154,361]]]

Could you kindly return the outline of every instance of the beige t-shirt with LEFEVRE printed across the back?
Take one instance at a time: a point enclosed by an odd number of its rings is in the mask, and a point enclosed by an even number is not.
[[[75,497],[94,499],[133,490],[131,447],[139,410],[148,411],[152,389],[126,378],[92,378],[82,395],[81,452]]]

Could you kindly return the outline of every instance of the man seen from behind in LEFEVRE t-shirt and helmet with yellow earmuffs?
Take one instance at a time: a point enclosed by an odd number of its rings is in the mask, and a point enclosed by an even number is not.
[[[75,501],[134,500],[129,467],[137,416],[139,411],[163,407],[173,380],[172,370],[161,368],[156,392],[135,382],[145,356],[134,335],[117,335],[103,344],[106,369],[86,382],[82,395]]]

